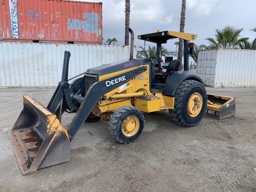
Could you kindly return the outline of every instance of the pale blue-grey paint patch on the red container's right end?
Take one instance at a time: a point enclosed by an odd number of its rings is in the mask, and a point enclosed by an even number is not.
[[[96,33],[99,35],[98,27],[99,27],[99,14],[98,13],[83,13],[83,18],[86,20],[79,19],[68,19],[68,30],[76,29],[87,31],[89,33]]]

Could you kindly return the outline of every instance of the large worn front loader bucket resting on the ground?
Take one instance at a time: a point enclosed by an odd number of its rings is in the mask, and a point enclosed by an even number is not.
[[[23,96],[24,108],[8,135],[23,174],[70,160],[71,145],[56,115]]]

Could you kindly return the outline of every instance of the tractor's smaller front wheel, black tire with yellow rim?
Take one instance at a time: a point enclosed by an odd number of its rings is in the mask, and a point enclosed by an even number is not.
[[[144,129],[144,116],[135,106],[122,106],[114,111],[109,121],[111,135],[119,143],[137,140]]]

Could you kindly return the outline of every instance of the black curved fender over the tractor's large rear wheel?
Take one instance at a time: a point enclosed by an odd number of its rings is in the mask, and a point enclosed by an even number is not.
[[[204,85],[203,80],[198,76],[198,74],[194,72],[191,72],[191,71],[173,72],[173,74],[170,75],[166,80],[163,87],[162,94],[168,95],[168,96],[175,95],[175,92],[180,86],[180,83],[182,83],[184,80],[187,80],[187,79],[193,79],[193,80],[199,81]]]

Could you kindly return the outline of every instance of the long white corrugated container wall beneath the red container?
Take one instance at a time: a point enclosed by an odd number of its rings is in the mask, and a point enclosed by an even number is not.
[[[69,78],[92,67],[130,58],[130,46],[0,42],[0,87],[57,86],[64,51],[71,52]]]

